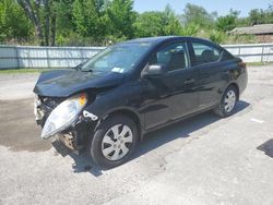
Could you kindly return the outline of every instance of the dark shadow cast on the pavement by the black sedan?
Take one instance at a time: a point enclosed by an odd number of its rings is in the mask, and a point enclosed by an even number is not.
[[[249,106],[250,104],[247,101],[238,101],[235,108],[235,114],[242,112]],[[140,143],[130,160],[145,155],[146,153],[152,152],[161,147],[162,145],[165,145],[177,138],[189,137],[191,133],[205,128],[209,124],[215,123],[218,120],[221,120],[221,118],[218,118],[212,111],[207,111],[168,125],[166,128],[159,129],[157,131],[151,132],[144,136],[143,141]],[[69,155],[74,160],[74,164],[72,165],[74,172],[90,172],[95,177],[99,177],[103,174],[102,169],[85,154],[75,155],[71,153]]]

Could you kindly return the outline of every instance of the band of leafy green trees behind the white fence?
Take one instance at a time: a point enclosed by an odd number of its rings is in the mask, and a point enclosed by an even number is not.
[[[139,14],[133,0],[0,0],[0,41],[105,46],[134,37],[186,35],[232,43],[238,39],[226,32],[265,23],[273,23],[273,7],[239,19],[234,11],[217,17],[190,3],[177,15],[169,5]]]

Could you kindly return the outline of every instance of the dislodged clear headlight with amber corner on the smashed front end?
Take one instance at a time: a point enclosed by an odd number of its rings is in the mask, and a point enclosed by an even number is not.
[[[41,137],[49,138],[69,128],[76,120],[86,102],[87,97],[85,94],[76,95],[62,101],[49,114],[41,131]]]

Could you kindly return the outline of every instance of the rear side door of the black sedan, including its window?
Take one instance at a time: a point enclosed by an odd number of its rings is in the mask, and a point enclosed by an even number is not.
[[[223,62],[223,50],[202,40],[191,40],[191,65],[198,71],[199,109],[206,109],[218,104],[221,92],[227,83]],[[228,74],[228,73],[226,73]]]

